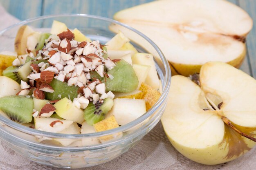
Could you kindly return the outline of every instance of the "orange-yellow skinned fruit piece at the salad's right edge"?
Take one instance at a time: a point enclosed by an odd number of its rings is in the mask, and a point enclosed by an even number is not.
[[[148,86],[146,83],[141,83],[139,88],[140,91],[144,91],[144,100],[146,102],[146,110],[149,110],[159,99],[161,93],[153,89],[151,86]]]

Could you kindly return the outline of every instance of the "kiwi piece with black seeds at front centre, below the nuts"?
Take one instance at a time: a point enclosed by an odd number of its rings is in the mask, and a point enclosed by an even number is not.
[[[104,99],[103,103],[98,101],[95,103],[95,105],[90,102],[84,110],[84,119],[87,124],[93,125],[103,120],[105,115],[112,108],[113,104],[113,100],[110,98]]]

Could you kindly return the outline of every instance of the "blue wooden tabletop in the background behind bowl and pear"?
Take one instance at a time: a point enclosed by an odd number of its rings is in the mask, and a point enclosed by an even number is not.
[[[57,13],[85,13],[108,18],[119,10],[153,0],[0,0],[4,8],[20,20]],[[256,77],[256,0],[229,0],[240,6],[254,20],[247,37],[247,57],[241,69]]]

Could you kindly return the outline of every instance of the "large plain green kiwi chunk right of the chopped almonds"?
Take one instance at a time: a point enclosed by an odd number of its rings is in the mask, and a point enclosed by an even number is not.
[[[138,87],[138,77],[135,74],[132,66],[121,60],[116,63],[116,66],[112,70],[108,71],[108,74],[114,78],[106,79],[106,91],[115,92],[131,92]]]

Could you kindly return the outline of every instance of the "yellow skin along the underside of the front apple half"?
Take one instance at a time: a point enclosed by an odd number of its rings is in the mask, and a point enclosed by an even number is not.
[[[167,137],[168,137],[169,141],[171,142],[171,144],[173,145],[173,147],[175,149],[177,149],[182,155],[191,159],[192,161],[202,163],[205,165],[216,165],[219,163],[225,163],[228,161],[232,161],[232,160],[242,156],[246,152],[248,152],[248,150],[245,150],[241,155],[234,156],[234,157],[227,159],[226,156],[228,154],[229,148],[226,145],[227,144],[226,142],[224,142],[222,145],[218,144],[218,145],[214,145],[214,146],[209,146],[208,148],[198,149],[198,148],[189,148],[186,146],[182,146],[182,145],[176,143],[168,135],[167,135]],[[253,148],[256,145],[254,141],[251,141],[245,137],[242,137],[242,138],[249,148]]]

